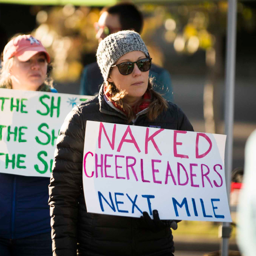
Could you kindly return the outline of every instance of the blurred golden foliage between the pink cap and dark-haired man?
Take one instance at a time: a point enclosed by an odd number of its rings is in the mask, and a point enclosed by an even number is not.
[[[75,7],[68,4],[54,7],[31,7],[38,27],[32,32],[40,39],[54,59],[53,76],[57,81],[80,78],[82,54],[97,48],[94,22],[99,8]]]

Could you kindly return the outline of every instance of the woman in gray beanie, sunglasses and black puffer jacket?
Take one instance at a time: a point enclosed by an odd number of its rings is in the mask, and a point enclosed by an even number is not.
[[[86,121],[193,131],[182,110],[152,88],[151,58],[134,31],[119,31],[97,50],[104,83],[98,96],[67,116],[57,139],[50,193],[54,255],[173,255],[170,221],[92,214],[83,194],[83,149]],[[109,168],[111,169],[111,168]],[[97,202],[95,202],[97,203]],[[120,202],[119,202],[120,203]]]

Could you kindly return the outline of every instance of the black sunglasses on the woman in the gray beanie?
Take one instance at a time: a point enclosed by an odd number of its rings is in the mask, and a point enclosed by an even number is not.
[[[134,62],[130,62],[130,61],[123,62],[123,63],[116,64],[111,67],[118,67],[120,74],[126,76],[128,74],[131,74],[131,72],[133,71],[134,63],[137,64],[138,69],[140,69],[140,71],[142,71],[142,72],[148,71],[151,67],[151,60],[152,60],[152,58],[145,58],[145,59],[141,59],[141,60],[134,61]]]

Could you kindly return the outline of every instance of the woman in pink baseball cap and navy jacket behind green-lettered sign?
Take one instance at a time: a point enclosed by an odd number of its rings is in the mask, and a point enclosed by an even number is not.
[[[50,55],[42,43],[31,35],[19,35],[3,50],[0,88],[57,92],[50,69]],[[1,256],[52,255],[48,184],[49,178],[0,169]]]

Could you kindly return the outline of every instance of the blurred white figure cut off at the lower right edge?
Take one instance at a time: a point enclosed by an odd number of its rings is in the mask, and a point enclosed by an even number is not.
[[[246,142],[243,185],[237,220],[237,244],[243,255],[256,254],[256,130]]]

